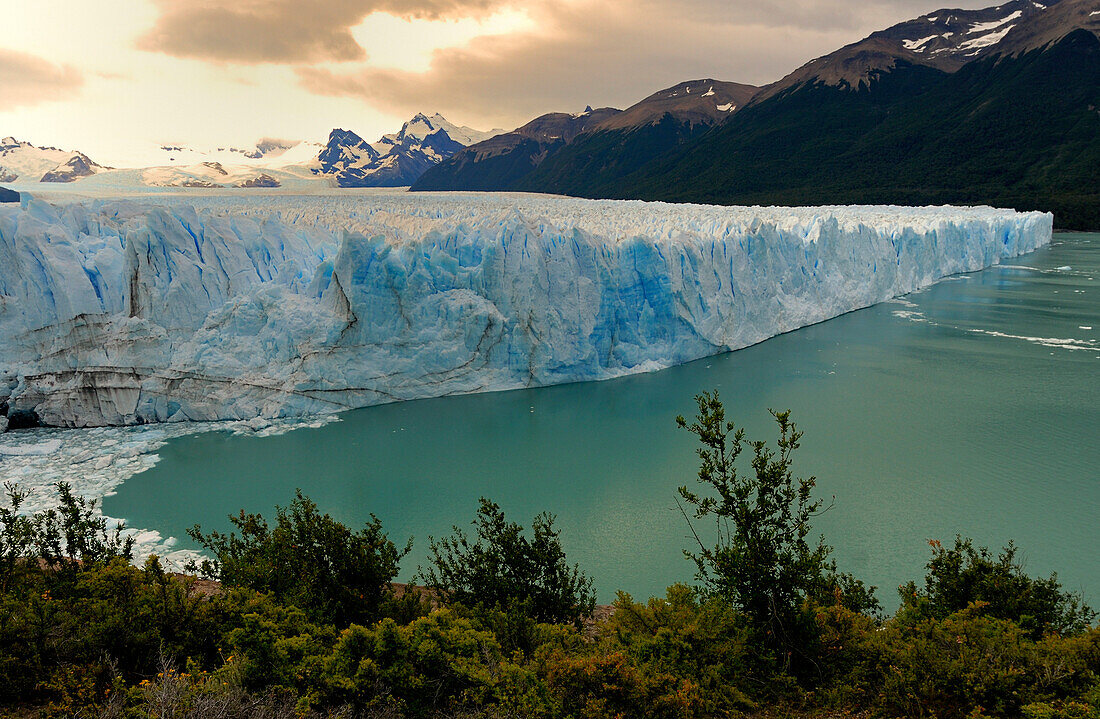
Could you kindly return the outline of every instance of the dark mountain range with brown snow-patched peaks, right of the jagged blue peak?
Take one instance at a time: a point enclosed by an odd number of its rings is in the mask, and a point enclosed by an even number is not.
[[[941,10],[762,88],[684,82],[606,111],[556,144],[503,147],[529,123],[457,153],[413,189],[725,204],[990,203],[1096,229],[1098,34],[1100,0]],[[703,102],[717,97],[728,99],[713,110]]]

